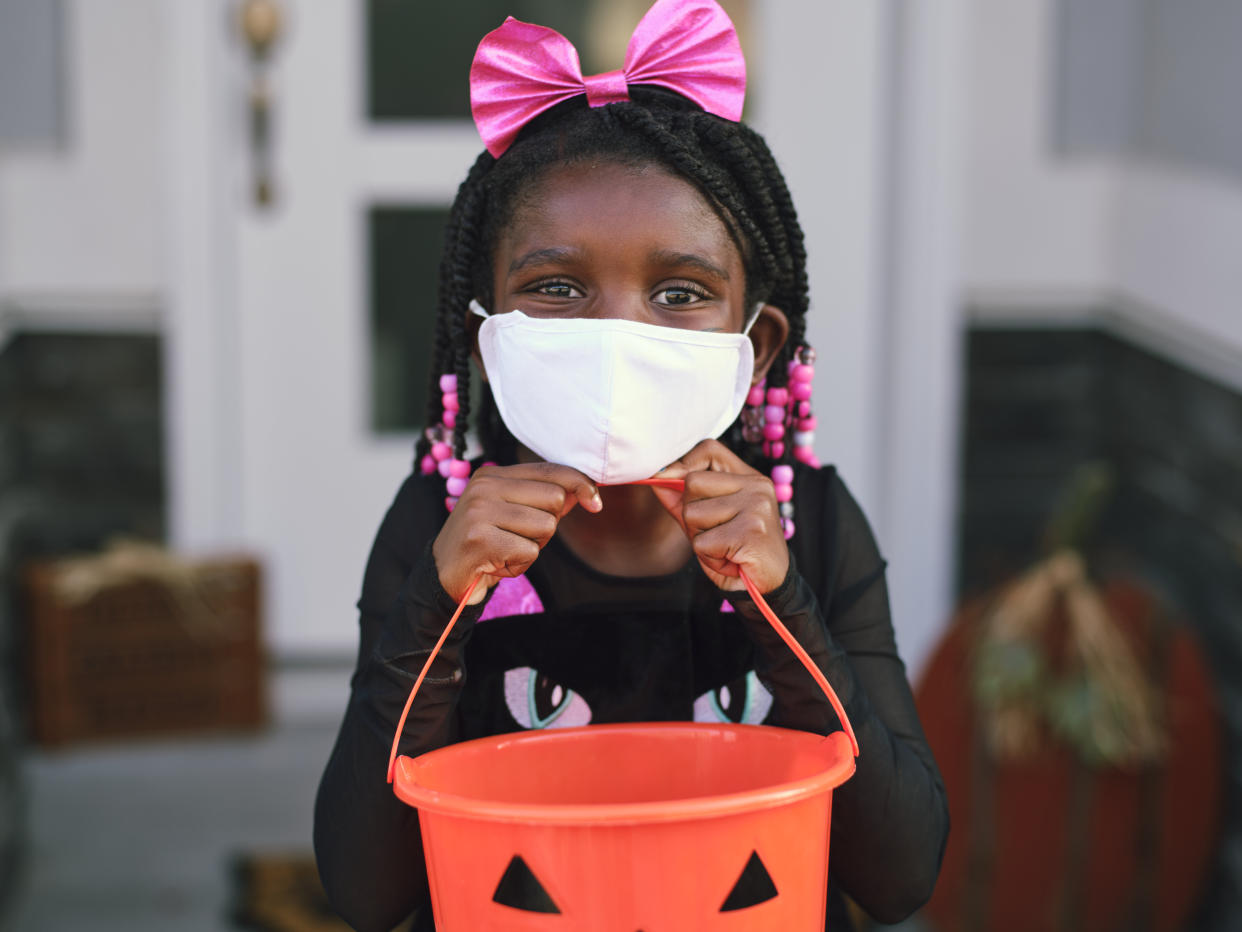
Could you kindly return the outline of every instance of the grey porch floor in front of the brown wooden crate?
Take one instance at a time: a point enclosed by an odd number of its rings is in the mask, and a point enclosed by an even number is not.
[[[27,845],[4,932],[235,930],[243,851],[309,852],[349,669],[270,677],[255,734],[27,753]]]

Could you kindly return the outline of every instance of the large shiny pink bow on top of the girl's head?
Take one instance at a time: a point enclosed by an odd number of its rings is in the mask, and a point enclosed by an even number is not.
[[[625,67],[586,78],[560,32],[510,16],[474,52],[471,111],[487,150],[499,157],[522,127],[561,101],[585,93],[602,107],[628,101],[630,85],[660,85],[708,113],[741,119],[746,62],[729,15],[714,0],[656,0],[630,37]]]

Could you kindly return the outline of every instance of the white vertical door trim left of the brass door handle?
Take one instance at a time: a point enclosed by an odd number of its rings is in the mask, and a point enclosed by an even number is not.
[[[183,549],[237,543],[243,517],[232,224],[245,189],[233,165],[236,50],[220,14],[212,0],[161,7],[164,436],[169,538]]]

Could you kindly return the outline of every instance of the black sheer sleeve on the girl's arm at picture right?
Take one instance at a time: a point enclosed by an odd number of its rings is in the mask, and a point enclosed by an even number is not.
[[[832,806],[833,877],[876,920],[897,922],[927,902],[940,871],[944,783],[897,652],[884,562],[867,519],[831,470],[800,473],[799,485],[818,487],[800,496],[799,569],[791,565],[768,601],[823,671],[858,738],[858,769]],[[775,723],[818,733],[840,727],[750,599],[730,601],[766,657],[758,672],[773,692]]]

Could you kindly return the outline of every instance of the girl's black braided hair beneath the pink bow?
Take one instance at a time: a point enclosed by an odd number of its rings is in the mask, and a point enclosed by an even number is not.
[[[465,456],[471,415],[467,307],[472,298],[491,306],[498,237],[523,196],[554,167],[587,160],[655,164],[694,185],[741,254],[746,307],[765,301],[789,318],[789,339],[768,372],[769,386],[787,384],[789,362],[806,343],[806,251],[789,188],[766,143],[744,123],[705,113],[671,91],[640,86],[631,87],[630,96],[630,101],[597,108],[587,107],[584,97],[551,108],[524,127],[499,159],[481,154],[457,191],[440,262],[427,424],[438,424],[441,418],[440,377],[456,374],[461,409],[451,436],[443,440],[451,442],[458,459]],[[513,462],[514,440],[492,393],[483,385],[479,394],[474,426],[483,457]],[[760,465],[759,451],[743,442],[738,424],[724,440],[745,460]],[[417,460],[431,442],[427,432],[420,437]],[[781,461],[792,462],[792,442],[785,444]]]

